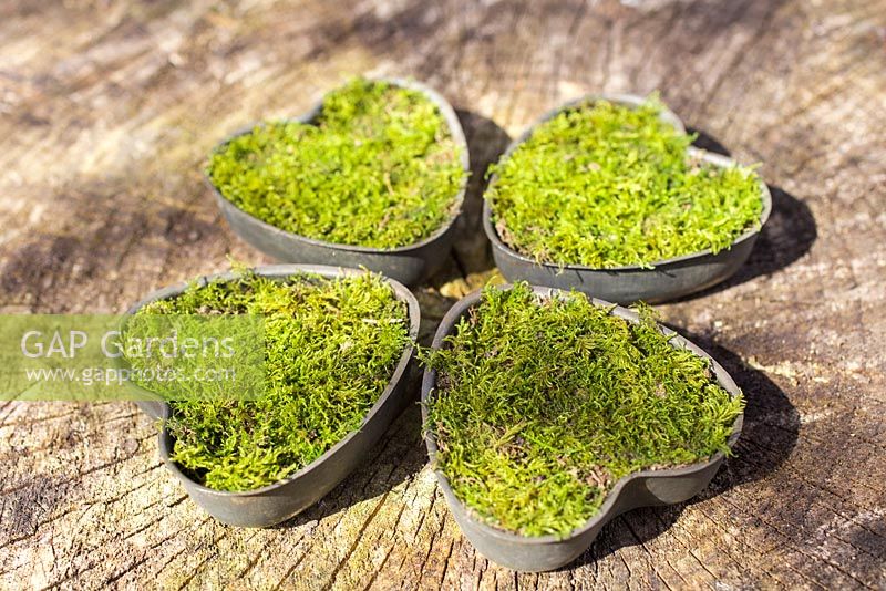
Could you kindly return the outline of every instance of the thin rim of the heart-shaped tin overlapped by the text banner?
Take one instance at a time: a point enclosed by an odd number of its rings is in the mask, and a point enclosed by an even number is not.
[[[285,279],[287,277],[290,277],[290,276],[293,276],[293,274],[298,274],[298,273],[312,273],[312,274],[318,274],[320,277],[323,277],[326,279],[336,279],[336,278],[342,278],[342,277],[357,277],[357,276],[361,276],[361,274],[364,274],[364,273],[369,272],[369,271],[365,271],[365,270],[362,270],[362,269],[352,269],[352,268],[347,268],[347,267],[331,267],[331,266],[327,266],[327,265],[300,265],[300,263],[267,265],[267,266],[261,266],[261,267],[255,267],[255,268],[251,268],[249,270],[251,270],[256,274],[259,274],[261,277],[271,278],[271,279]],[[373,274],[378,276],[379,273],[373,273]],[[198,282],[199,282],[200,286],[205,286],[210,281],[218,281],[218,280],[228,281],[228,280],[231,280],[231,279],[234,279],[236,277],[237,277],[237,274],[235,272],[226,271],[226,272],[220,272],[220,273],[202,276],[198,279]],[[357,436],[357,434],[360,432],[360,429],[363,427],[363,425],[369,423],[380,412],[381,407],[384,406],[384,404],[387,403],[388,398],[393,393],[394,387],[396,387],[398,384],[400,383],[400,381],[404,377],[404,374],[405,374],[406,369],[409,366],[409,362],[412,359],[413,352],[415,350],[414,343],[415,343],[415,341],[418,339],[418,335],[419,335],[419,324],[421,322],[421,310],[419,308],[418,300],[415,300],[415,297],[412,294],[412,292],[409,289],[406,289],[399,281],[396,281],[394,279],[391,279],[391,278],[388,278],[388,277],[384,277],[384,276],[381,276],[381,277],[394,290],[394,294],[396,296],[398,300],[400,300],[401,302],[406,304],[406,310],[408,310],[408,314],[409,314],[409,323],[410,323],[410,325],[409,325],[410,344],[408,344],[403,349],[403,353],[400,355],[400,361],[398,362],[396,367],[394,369],[394,372],[391,375],[390,381],[388,382],[388,385],[384,387],[382,393],[379,395],[379,398],[375,401],[375,403],[372,405],[372,407],[363,416],[363,421],[360,423],[360,426],[358,426],[356,429],[349,432],[344,437],[342,437],[341,439],[336,442],[336,444],[332,447],[330,447],[329,449],[327,449],[320,457],[316,458],[315,460],[309,463],[307,466],[303,466],[302,468],[297,470],[295,474],[292,474],[290,476],[287,476],[286,478],[282,478],[280,480],[277,480],[276,483],[271,483],[269,485],[262,486],[260,488],[253,488],[253,489],[249,489],[249,490],[216,490],[214,488],[209,488],[207,486],[204,486],[204,485],[195,481],[193,478],[187,476],[176,465],[175,462],[173,462],[171,459],[171,457],[169,457],[169,445],[172,443],[172,435],[169,434],[168,429],[165,426],[165,422],[169,417],[171,408],[169,408],[168,404],[162,403],[163,404],[163,412],[161,414],[159,421],[162,421],[164,423],[164,426],[163,426],[163,429],[161,431],[161,434],[159,434],[159,443],[161,443],[161,445],[159,445],[159,454],[161,454],[161,457],[163,458],[164,464],[166,464],[166,467],[173,474],[175,474],[179,479],[188,481],[190,484],[190,486],[193,486],[196,490],[199,490],[204,495],[210,495],[210,496],[214,496],[214,497],[228,497],[228,498],[230,498],[230,497],[245,498],[245,497],[262,496],[262,495],[265,495],[265,494],[267,494],[269,491],[274,491],[274,490],[276,490],[278,488],[281,488],[281,487],[288,485],[289,483],[291,483],[292,480],[297,480],[297,479],[306,476],[308,473],[317,469],[321,464],[323,464],[326,460],[328,460],[330,457],[332,457],[340,448],[344,447],[351,439],[353,439]],[[148,294],[147,297],[145,297],[144,299],[142,299],[141,301],[138,301],[132,308],[130,308],[126,311],[126,314],[134,314],[141,308],[143,308],[144,305],[146,305],[146,304],[148,304],[151,302],[154,302],[154,301],[157,301],[157,300],[165,300],[165,299],[168,299],[171,297],[177,296],[177,294],[182,293],[182,291],[184,291],[184,289],[186,289],[187,287],[188,287],[188,283],[183,282],[183,283],[177,283],[175,286],[171,286],[168,288],[163,288],[163,289],[159,289],[157,291],[154,291],[151,294]]]

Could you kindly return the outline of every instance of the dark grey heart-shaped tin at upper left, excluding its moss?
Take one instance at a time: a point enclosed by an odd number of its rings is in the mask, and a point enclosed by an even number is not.
[[[222,212],[225,215],[225,218],[237,236],[261,252],[270,255],[280,261],[341,267],[364,267],[370,271],[379,272],[406,286],[413,286],[422,279],[430,277],[445,262],[452,249],[455,220],[462,210],[465,188],[467,187],[467,176],[471,172],[464,131],[462,129],[461,123],[459,123],[455,111],[453,111],[446,100],[434,90],[418,82],[400,79],[379,79],[379,81],[424,94],[440,110],[449,125],[454,142],[460,146],[461,162],[465,175],[459,188],[453,214],[450,219],[424,240],[415,242],[414,245],[392,249],[327,242],[281,230],[247,214],[227,200],[213,184],[208,175],[206,175],[206,184],[215,194]],[[308,113],[292,121],[310,124],[316,120],[322,106],[323,103],[321,101]],[[215,149],[219,149],[235,137],[249,133],[253,127],[254,126],[250,125],[249,127],[240,129],[218,144]]]

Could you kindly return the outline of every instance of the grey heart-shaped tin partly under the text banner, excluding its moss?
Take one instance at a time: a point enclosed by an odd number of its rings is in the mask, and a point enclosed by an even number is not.
[[[280,280],[300,272],[315,273],[326,278],[348,277],[365,272],[357,269],[312,265],[272,265],[258,267],[254,271],[262,277]],[[226,280],[234,277],[234,273],[228,272],[208,276],[202,281]],[[398,281],[388,279],[388,282],[393,288],[396,298],[406,304],[410,322],[409,336],[414,342],[419,334],[419,302]],[[127,313],[135,313],[150,302],[177,296],[186,288],[187,284],[182,283],[156,291],[132,307]],[[320,500],[365,459],[388,426],[400,415],[409,402],[408,371],[413,355],[412,346],[408,346],[403,351],[388,386],[370,408],[358,429],[349,433],[322,456],[295,475],[272,485],[231,492],[215,490],[192,480],[169,459],[174,440],[166,428],[163,428],[159,434],[159,455],[169,471],[182,481],[190,498],[219,521],[243,527],[267,527],[279,523]],[[155,418],[165,419],[169,416],[169,406],[162,402],[143,401],[138,403],[138,406]]]

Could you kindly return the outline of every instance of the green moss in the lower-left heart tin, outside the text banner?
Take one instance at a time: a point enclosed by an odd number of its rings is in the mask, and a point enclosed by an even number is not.
[[[140,313],[264,315],[258,398],[171,403],[172,459],[218,490],[286,478],[358,428],[410,342],[405,304],[371,273],[286,281],[247,273]]]

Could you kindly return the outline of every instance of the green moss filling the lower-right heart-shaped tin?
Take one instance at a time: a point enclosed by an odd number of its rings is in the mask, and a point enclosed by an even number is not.
[[[566,536],[622,476],[729,453],[742,400],[639,311],[635,324],[576,292],[486,288],[447,346],[422,353],[439,372],[437,468],[480,519]]]

